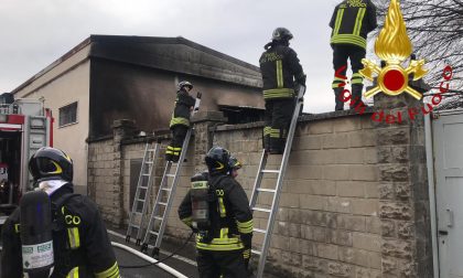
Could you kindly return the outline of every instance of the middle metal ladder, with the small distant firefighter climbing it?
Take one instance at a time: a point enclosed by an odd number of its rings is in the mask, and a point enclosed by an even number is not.
[[[192,116],[200,109],[201,104],[201,93],[197,93],[196,103],[192,111]],[[165,226],[168,224],[169,213],[172,209],[172,203],[175,196],[176,185],[180,181],[180,172],[182,170],[183,162],[186,157],[186,151],[190,143],[190,138],[192,136],[192,126],[190,126],[189,131],[186,132],[185,140],[182,146],[182,153],[180,154],[179,162],[174,173],[171,173],[172,161],[165,163],[164,173],[161,179],[161,184],[159,185],[158,195],[155,197],[154,207],[151,212],[150,222],[148,224],[147,233],[144,234],[143,244],[141,245],[141,252],[148,252],[148,244],[151,239],[151,236],[155,236],[155,244],[152,250],[151,256],[159,258],[159,250],[164,236]],[[171,185],[169,185],[171,181]]]

